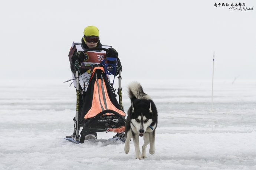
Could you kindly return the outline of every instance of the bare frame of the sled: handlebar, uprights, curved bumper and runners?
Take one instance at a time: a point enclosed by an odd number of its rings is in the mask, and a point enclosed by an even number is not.
[[[87,51],[91,51],[91,50],[104,50],[104,51],[107,51],[107,49],[105,48],[100,48],[100,47],[95,47],[95,48],[91,48],[91,49],[87,49],[85,50],[84,52],[87,52]],[[79,94],[80,94],[80,89],[79,89],[79,68],[83,68],[83,69],[92,69],[92,67],[90,66],[79,66],[79,61],[76,60],[75,62],[75,80],[76,80],[76,116],[74,118],[74,131],[73,131],[73,134],[72,136],[70,136],[71,138],[69,137],[66,137],[67,140],[69,141],[72,141],[74,143],[83,143],[84,140],[85,140],[85,134],[88,130],[90,129],[93,129],[95,127],[93,127],[92,125],[96,122],[96,120],[99,120],[99,119],[108,119],[108,118],[114,118],[116,120],[118,120],[120,123],[125,123],[126,119],[124,116],[122,116],[121,114],[117,113],[116,111],[114,110],[104,110],[100,113],[98,113],[96,116],[90,118],[90,119],[85,119],[85,120],[79,120],[79,112],[80,112],[80,109],[82,108],[79,108],[79,102],[80,99],[79,99]],[[121,107],[122,111],[124,111],[123,109],[123,106],[122,106],[122,87],[121,87],[121,81],[122,81],[122,77],[121,77],[121,71],[119,70],[119,76],[118,76],[118,99],[119,99],[119,106]],[[114,83],[114,81],[113,81]],[[85,93],[85,91],[83,91],[83,93]],[[113,91],[114,93],[114,91]],[[111,116],[102,116],[103,114],[105,113],[112,113],[113,115]],[[79,131],[80,131],[80,128],[83,128],[82,131],[81,131],[81,136],[79,135]],[[106,131],[106,128],[102,128],[102,129],[99,129],[97,128],[97,131]],[[117,134],[119,135],[120,137],[122,138],[125,138],[124,136],[124,132],[122,132],[121,134]]]

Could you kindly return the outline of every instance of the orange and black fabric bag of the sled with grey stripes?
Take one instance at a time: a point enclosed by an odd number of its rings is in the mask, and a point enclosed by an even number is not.
[[[80,125],[83,126],[80,143],[87,131],[124,130],[125,121],[125,113],[108,83],[104,68],[95,67],[80,113]]]

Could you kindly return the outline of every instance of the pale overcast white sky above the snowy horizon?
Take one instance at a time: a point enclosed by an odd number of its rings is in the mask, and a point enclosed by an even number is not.
[[[256,7],[244,1],[12,0],[0,6],[0,78],[71,78],[68,53],[83,29],[99,28],[122,77],[256,79]],[[214,3],[229,3],[214,7]]]

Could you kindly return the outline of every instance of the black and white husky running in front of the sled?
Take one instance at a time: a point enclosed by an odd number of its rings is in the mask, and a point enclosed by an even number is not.
[[[130,140],[133,139],[136,159],[146,158],[146,149],[150,144],[149,153],[155,153],[155,128],[157,127],[157,108],[151,97],[144,93],[141,84],[133,82],[128,86],[131,107],[125,123],[125,147],[128,154]],[[140,151],[139,136],[144,136],[142,153]]]

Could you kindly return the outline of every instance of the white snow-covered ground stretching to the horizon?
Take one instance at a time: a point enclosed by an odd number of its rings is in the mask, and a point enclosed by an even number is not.
[[[135,159],[114,133],[74,144],[75,89],[64,80],[0,84],[0,169],[256,169],[256,81],[140,80],[158,109],[155,154]],[[123,80],[125,111],[130,101]],[[140,138],[142,146],[142,138]]]

